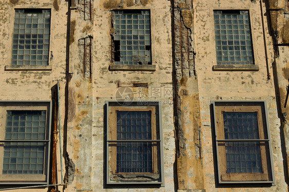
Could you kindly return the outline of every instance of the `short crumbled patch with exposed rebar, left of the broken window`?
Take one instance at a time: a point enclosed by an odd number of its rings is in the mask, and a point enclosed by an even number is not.
[[[82,61],[83,78],[92,81],[93,36],[88,35],[78,40],[79,57]]]

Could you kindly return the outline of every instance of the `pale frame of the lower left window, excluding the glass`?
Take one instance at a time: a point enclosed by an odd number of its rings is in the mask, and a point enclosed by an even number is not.
[[[50,130],[51,130],[51,101],[1,101],[0,102],[0,140],[5,140],[6,114],[8,110],[46,110],[46,132],[44,144],[44,167],[43,174],[2,174],[3,152],[1,149],[5,142],[0,143],[0,185],[1,184],[48,184],[49,179],[49,153],[50,153]],[[9,141],[9,140],[7,140]],[[39,140],[42,143],[42,140]],[[47,141],[47,142],[46,142]]]

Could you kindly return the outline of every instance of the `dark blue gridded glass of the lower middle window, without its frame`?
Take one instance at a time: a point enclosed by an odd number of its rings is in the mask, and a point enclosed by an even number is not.
[[[117,111],[117,140],[151,140],[151,111]],[[117,143],[116,172],[152,172],[152,143]]]

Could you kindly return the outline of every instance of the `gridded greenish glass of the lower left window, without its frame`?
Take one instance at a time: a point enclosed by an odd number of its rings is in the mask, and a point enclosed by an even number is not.
[[[45,110],[7,111],[5,140],[45,140]],[[5,142],[3,174],[43,174],[44,142]]]

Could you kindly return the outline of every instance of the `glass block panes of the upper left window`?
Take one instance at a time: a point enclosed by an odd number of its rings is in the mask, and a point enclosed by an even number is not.
[[[16,9],[11,65],[48,65],[50,10]]]

